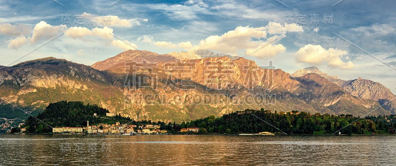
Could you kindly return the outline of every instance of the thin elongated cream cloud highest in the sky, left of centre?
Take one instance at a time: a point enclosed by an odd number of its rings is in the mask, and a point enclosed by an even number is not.
[[[97,16],[91,13],[84,12],[81,14],[82,17],[90,20],[90,24],[101,27],[133,27],[136,25],[141,25],[141,21],[147,22],[148,19],[121,19],[118,16],[107,15],[107,16]]]

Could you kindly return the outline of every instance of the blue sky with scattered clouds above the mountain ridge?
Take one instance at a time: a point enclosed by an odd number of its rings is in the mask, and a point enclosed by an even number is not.
[[[0,0],[0,65],[209,49],[396,92],[394,0]]]

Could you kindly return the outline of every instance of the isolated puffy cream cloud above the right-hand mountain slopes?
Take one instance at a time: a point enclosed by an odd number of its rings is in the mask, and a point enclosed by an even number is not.
[[[327,64],[330,68],[351,69],[351,61],[344,62],[341,58],[347,55],[347,51],[329,48],[325,49],[321,45],[307,44],[296,52],[297,62],[305,62],[311,65],[320,66]]]

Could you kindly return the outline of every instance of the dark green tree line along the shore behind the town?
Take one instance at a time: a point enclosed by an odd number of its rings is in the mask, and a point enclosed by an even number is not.
[[[25,124],[11,129],[12,133],[51,133],[53,127],[87,127],[92,125],[125,124],[144,129],[147,124],[170,134],[241,134],[268,132],[277,135],[371,135],[395,134],[395,115],[354,117],[352,115],[310,114],[307,112],[277,112],[271,110],[244,110],[221,117],[209,116],[182,123],[135,121],[116,115],[107,117],[108,110],[98,105],[78,101],[51,103],[37,117],[29,117]],[[149,125],[149,126],[150,126]],[[140,127],[140,128],[139,128]],[[194,128],[194,130],[186,130]]]

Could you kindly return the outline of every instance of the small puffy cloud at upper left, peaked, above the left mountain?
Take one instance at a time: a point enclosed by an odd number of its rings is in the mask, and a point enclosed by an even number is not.
[[[45,21],[40,21],[33,28],[33,35],[30,38],[30,42],[35,43],[41,39],[50,39],[67,29],[66,25],[52,26],[47,24]]]

